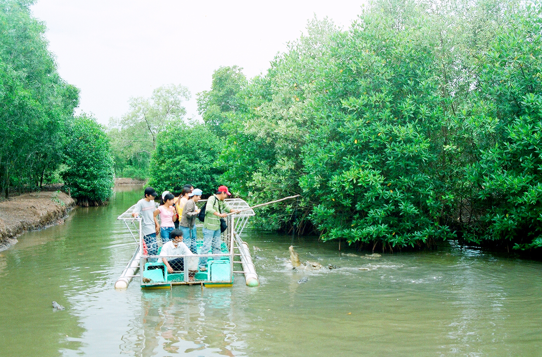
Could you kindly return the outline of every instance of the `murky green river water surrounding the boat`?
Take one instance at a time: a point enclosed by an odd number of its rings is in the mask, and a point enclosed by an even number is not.
[[[0,356],[542,356],[542,263],[454,244],[367,259],[295,238],[302,261],[340,266],[301,272],[292,237],[249,230],[257,288],[117,291],[135,243],[116,218],[141,194],[0,252]]]

